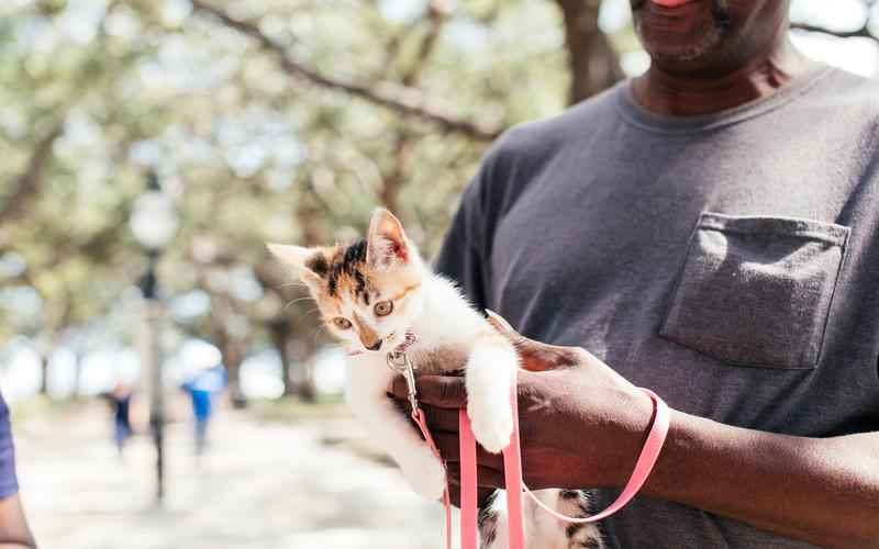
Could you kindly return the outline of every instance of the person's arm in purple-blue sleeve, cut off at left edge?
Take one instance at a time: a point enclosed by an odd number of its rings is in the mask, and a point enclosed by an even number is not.
[[[0,549],[35,548],[36,544],[24,518],[19,498],[19,481],[15,475],[15,450],[12,445],[12,427],[9,407],[0,395]]]

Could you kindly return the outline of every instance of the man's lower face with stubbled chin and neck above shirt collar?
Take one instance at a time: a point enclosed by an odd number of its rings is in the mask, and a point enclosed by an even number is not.
[[[788,40],[788,0],[698,0],[663,10],[633,0],[653,60],[636,78],[638,103],[657,114],[710,114],[769,96],[811,63]]]

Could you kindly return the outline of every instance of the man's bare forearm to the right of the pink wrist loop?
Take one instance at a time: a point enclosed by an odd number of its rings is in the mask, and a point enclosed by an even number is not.
[[[879,548],[879,434],[775,435],[672,412],[645,494],[833,548]]]

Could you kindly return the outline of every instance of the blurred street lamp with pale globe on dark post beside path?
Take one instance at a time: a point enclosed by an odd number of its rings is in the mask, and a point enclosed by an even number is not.
[[[154,171],[146,176],[146,192],[134,203],[131,231],[146,250],[147,268],[141,279],[141,291],[146,301],[146,345],[144,365],[149,371],[149,426],[156,447],[156,500],[160,504],[165,496],[165,397],[162,377],[162,347],[159,320],[162,303],[158,296],[156,264],[159,256],[177,232],[177,212],[174,202],[162,191]]]

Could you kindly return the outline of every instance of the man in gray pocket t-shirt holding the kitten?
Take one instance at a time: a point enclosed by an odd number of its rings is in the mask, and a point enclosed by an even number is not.
[[[525,482],[607,506],[645,386],[671,429],[609,547],[877,548],[879,86],[804,58],[785,0],[632,8],[650,69],[501,138],[438,257],[548,370],[520,376]],[[463,382],[419,393],[456,482]]]

